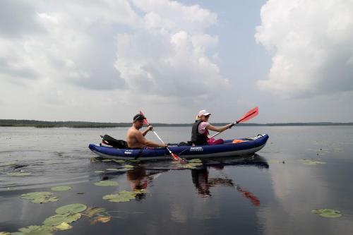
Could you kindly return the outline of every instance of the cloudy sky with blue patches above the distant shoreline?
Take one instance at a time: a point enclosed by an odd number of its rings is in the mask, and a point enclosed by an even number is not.
[[[0,1],[0,119],[353,121],[352,0]]]

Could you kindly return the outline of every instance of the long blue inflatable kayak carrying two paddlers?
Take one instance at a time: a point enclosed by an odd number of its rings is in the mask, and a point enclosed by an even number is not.
[[[252,155],[261,150],[268,140],[268,135],[257,135],[250,138],[241,138],[237,140],[225,140],[221,145],[198,145],[198,146],[177,146],[170,145],[172,150],[179,157],[183,158],[201,158],[201,157],[232,157],[239,155]],[[162,147],[152,147],[143,149],[128,149],[106,147],[102,145],[90,144],[88,146],[92,152],[100,157],[109,159],[170,159],[167,149]]]

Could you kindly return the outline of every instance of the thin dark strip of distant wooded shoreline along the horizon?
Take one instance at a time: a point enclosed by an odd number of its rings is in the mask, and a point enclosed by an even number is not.
[[[215,126],[224,126],[228,123],[213,123]],[[192,126],[193,123],[153,123],[153,126]],[[0,126],[22,126],[35,128],[113,128],[128,127],[131,123],[119,122],[91,122],[91,121],[37,121],[37,120],[16,120],[0,119]],[[237,126],[353,126],[353,122],[309,122],[309,123],[239,123]]]

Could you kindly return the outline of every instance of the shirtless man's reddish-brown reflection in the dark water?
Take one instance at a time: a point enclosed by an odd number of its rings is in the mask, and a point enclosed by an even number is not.
[[[131,191],[145,190],[148,188],[148,184],[152,183],[152,180],[164,171],[166,170],[146,170],[143,167],[139,167],[126,171],[126,179],[130,184]],[[136,200],[143,198],[145,198],[145,193],[138,193],[136,195]]]

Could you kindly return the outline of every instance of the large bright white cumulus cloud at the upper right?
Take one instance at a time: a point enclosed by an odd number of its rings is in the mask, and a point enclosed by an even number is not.
[[[353,1],[269,0],[256,30],[273,56],[262,90],[284,97],[353,90]]]

